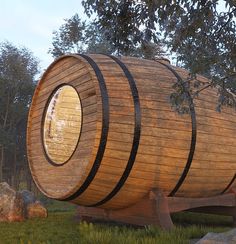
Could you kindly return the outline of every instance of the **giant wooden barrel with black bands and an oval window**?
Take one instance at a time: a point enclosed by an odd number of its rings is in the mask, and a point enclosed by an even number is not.
[[[118,209],[160,189],[207,197],[234,184],[236,113],[216,111],[205,89],[190,113],[171,108],[188,72],[162,61],[66,55],[36,88],[28,119],[28,159],[48,197]],[[202,82],[207,79],[197,77]]]

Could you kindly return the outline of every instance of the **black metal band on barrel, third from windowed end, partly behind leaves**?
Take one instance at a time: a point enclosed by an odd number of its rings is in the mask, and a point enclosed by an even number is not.
[[[157,62],[164,65],[167,69],[169,69],[174,74],[174,76],[177,78],[178,81],[184,83],[184,81],[182,80],[180,75],[170,65],[164,64],[159,61],[157,61]],[[176,186],[169,194],[170,197],[174,196],[176,194],[176,192],[179,190],[179,188],[182,186],[182,184],[184,183],[184,180],[185,180],[185,178],[190,170],[191,164],[192,164],[195,147],[196,147],[196,142],[197,142],[197,121],[196,121],[195,108],[194,108],[193,99],[192,99],[190,93],[188,92],[187,95],[189,98],[189,109],[190,109],[191,120],[192,120],[192,139],[191,139],[190,151],[189,151],[189,155],[188,155],[188,161],[185,165],[184,171],[183,171],[179,181],[177,182]]]

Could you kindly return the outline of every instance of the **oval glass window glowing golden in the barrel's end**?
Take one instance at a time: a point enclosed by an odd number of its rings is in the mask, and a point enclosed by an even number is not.
[[[69,85],[59,87],[51,96],[43,126],[43,144],[49,159],[64,164],[73,155],[81,132],[81,102]]]

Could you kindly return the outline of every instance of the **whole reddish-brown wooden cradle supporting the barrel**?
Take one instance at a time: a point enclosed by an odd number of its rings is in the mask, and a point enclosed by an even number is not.
[[[174,226],[170,214],[185,210],[232,216],[236,224],[236,194],[231,190],[215,197],[180,198],[166,197],[161,191],[152,190],[140,202],[124,209],[107,210],[79,206],[78,216],[85,221],[99,219],[138,226],[157,225],[169,230]]]

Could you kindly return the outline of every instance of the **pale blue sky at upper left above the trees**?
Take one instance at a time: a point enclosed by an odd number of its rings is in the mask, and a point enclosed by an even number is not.
[[[87,18],[82,0],[0,0],[0,42],[24,46],[39,58],[41,70],[53,58],[48,54],[52,32],[64,19],[78,13]]]

